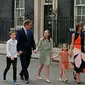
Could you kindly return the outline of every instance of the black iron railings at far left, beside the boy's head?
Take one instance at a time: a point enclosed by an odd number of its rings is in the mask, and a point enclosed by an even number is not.
[[[0,43],[6,43],[10,28],[14,25],[14,20],[0,20]]]

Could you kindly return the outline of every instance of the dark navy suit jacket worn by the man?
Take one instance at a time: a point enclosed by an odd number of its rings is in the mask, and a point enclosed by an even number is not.
[[[36,49],[34,36],[31,29],[29,30],[28,38],[23,28],[17,31],[16,38],[18,41],[17,51],[22,51],[23,54],[32,54],[32,48],[33,50]]]

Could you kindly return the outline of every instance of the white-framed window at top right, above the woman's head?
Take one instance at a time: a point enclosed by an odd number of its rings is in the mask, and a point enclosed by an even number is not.
[[[75,2],[75,23],[85,24],[85,0],[74,0]]]

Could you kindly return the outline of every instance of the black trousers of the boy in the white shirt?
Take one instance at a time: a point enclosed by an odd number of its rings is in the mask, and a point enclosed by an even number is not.
[[[16,80],[16,74],[17,74],[17,58],[14,58],[12,61],[10,58],[6,58],[7,66],[4,71],[4,77],[6,77],[6,74],[8,70],[10,69],[11,64],[13,65],[13,80]]]

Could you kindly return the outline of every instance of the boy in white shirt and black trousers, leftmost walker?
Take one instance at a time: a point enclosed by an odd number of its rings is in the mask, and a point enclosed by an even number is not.
[[[3,73],[3,80],[6,80],[6,74],[10,69],[11,64],[13,65],[13,84],[18,85],[16,79],[17,75],[17,40],[16,33],[14,31],[9,32],[10,39],[7,41],[7,66]]]

